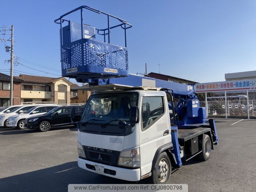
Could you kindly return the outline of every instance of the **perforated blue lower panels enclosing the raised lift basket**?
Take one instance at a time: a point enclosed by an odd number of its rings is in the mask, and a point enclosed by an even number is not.
[[[70,78],[111,78],[128,76],[128,52],[92,39],[80,39],[61,48],[62,76]]]

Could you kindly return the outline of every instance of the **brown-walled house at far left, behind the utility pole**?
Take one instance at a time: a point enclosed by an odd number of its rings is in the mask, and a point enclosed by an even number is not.
[[[13,78],[13,104],[20,104],[20,83],[21,80]],[[10,76],[0,73],[0,106],[10,105]]]

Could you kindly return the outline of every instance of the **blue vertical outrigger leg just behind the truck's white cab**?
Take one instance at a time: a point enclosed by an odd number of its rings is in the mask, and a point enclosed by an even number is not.
[[[174,153],[176,158],[176,166],[178,168],[182,167],[181,157],[180,157],[180,145],[178,142],[178,126],[171,126],[171,136],[172,136],[172,144],[173,144],[173,150],[172,153]]]

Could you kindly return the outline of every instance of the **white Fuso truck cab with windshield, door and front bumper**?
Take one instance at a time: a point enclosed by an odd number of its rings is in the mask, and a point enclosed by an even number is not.
[[[93,94],[78,128],[80,168],[128,181],[157,174],[159,183],[164,183],[170,177],[167,154],[164,152],[162,159],[156,159],[161,146],[172,147],[165,92],[129,90]],[[155,164],[162,167],[156,173],[152,172]]]

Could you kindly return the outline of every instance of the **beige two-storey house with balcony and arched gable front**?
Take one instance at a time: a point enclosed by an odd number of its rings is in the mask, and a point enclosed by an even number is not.
[[[70,85],[65,78],[52,78],[20,74],[15,78],[22,81],[21,103],[27,102],[55,102],[56,104],[70,104]]]

